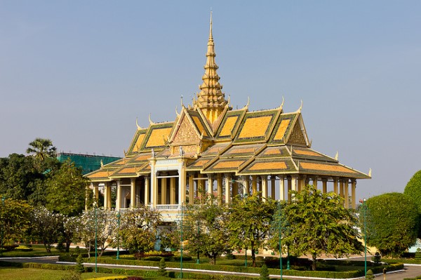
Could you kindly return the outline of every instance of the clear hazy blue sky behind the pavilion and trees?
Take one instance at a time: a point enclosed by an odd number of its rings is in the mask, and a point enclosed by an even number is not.
[[[210,9],[234,107],[302,116],[312,148],[364,173],[357,199],[421,169],[421,1],[0,0],[0,157],[35,138],[123,156],[199,91]]]

